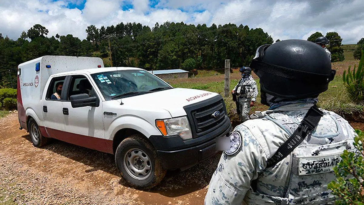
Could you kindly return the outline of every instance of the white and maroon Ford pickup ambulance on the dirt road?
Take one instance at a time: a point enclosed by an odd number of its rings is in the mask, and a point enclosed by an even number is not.
[[[21,63],[17,108],[34,146],[55,138],[114,154],[120,175],[138,189],[214,155],[216,138],[232,129],[221,95],[173,88],[149,71],[104,67],[95,57]]]

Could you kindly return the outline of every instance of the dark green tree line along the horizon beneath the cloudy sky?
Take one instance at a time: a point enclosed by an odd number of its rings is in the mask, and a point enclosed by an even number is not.
[[[231,67],[247,66],[258,46],[273,43],[273,38],[261,28],[231,23],[208,27],[165,22],[156,23],[152,28],[141,23],[100,28],[90,25],[85,30],[87,38],[83,40],[72,34],[48,37],[48,32],[46,27],[35,24],[17,40],[0,33],[0,88],[16,88],[17,66],[43,55],[101,57],[105,66],[146,70],[209,70],[223,68],[225,59],[230,59]],[[316,32],[308,40],[318,36],[323,35]],[[341,37],[336,32],[329,32],[326,37],[332,61],[343,61]],[[360,42],[364,45],[363,39]]]

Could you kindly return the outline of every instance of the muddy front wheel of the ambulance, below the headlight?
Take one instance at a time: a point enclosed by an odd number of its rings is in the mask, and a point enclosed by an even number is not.
[[[119,174],[137,189],[157,186],[167,172],[155,148],[140,134],[131,135],[119,144],[115,163]]]

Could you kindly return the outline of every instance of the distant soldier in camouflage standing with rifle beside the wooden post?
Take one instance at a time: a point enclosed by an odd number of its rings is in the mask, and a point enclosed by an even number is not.
[[[236,94],[238,100],[238,107],[240,112],[240,120],[244,122],[249,120],[250,106],[254,106],[256,97],[258,96],[257,83],[252,77],[252,69],[250,67],[240,68],[241,79],[234,87],[232,93]]]

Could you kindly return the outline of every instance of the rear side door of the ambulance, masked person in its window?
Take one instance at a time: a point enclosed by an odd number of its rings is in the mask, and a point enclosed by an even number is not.
[[[63,88],[63,84],[66,77],[54,77],[52,78],[50,84],[48,85],[47,93],[45,99],[42,100],[42,112],[44,125],[46,127],[48,135],[52,138],[57,138],[57,136],[62,135],[64,132],[64,117],[62,113],[63,100],[58,98],[62,93],[57,92],[57,89]],[[62,89],[62,92],[65,92]]]

